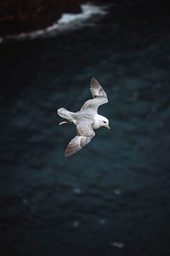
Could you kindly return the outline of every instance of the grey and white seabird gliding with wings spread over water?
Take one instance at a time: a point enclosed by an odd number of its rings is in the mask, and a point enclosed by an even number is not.
[[[77,136],[68,144],[65,150],[65,157],[77,153],[77,151],[90,143],[95,136],[95,129],[101,126],[111,129],[109,120],[98,113],[99,106],[107,103],[108,98],[97,79],[91,79],[90,91],[93,99],[85,102],[80,111],[74,113],[65,108],[58,109],[59,116],[65,119],[59,125],[73,123],[77,127]]]

